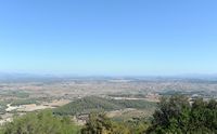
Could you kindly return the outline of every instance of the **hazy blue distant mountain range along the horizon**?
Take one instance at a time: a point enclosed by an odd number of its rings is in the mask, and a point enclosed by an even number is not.
[[[44,81],[44,80],[217,80],[217,75],[177,75],[177,76],[149,76],[149,77],[102,77],[88,76],[79,77],[74,75],[38,75],[38,73],[21,73],[21,72],[0,72],[0,81]]]

